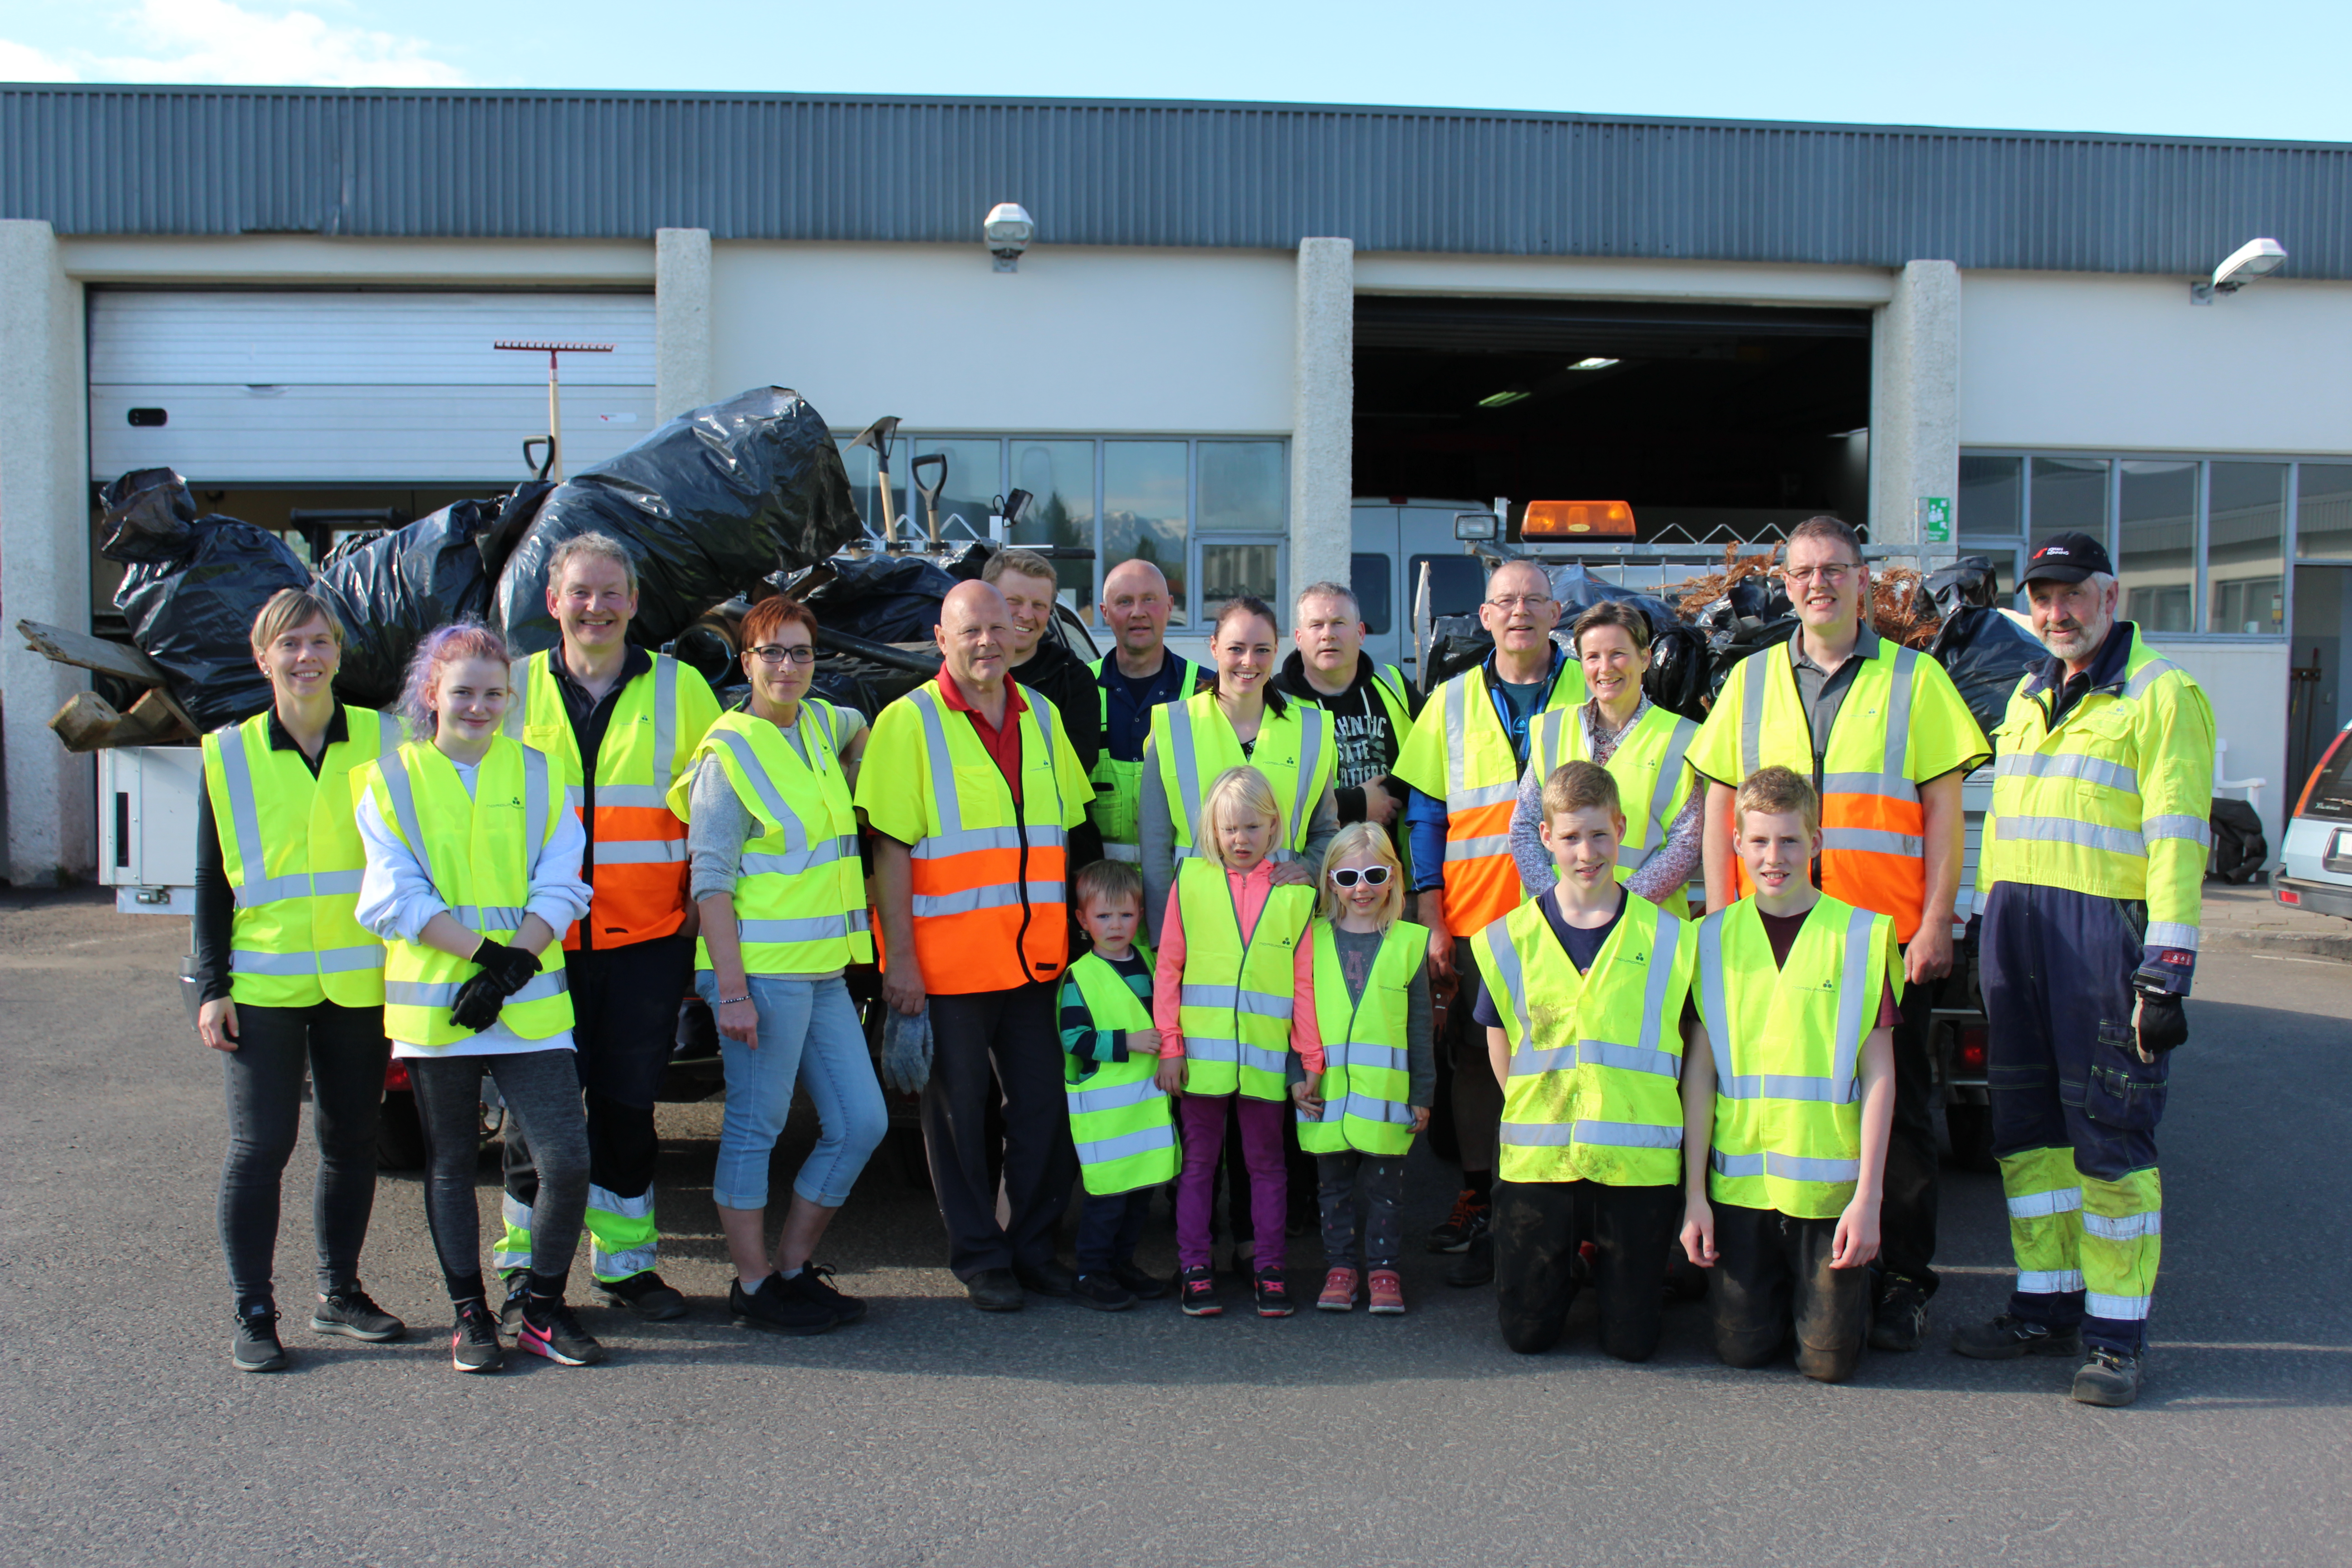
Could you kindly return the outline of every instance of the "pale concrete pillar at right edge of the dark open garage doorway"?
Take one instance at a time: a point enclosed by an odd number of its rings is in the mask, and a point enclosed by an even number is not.
[[[1959,503],[1959,268],[1912,261],[1870,322],[1870,541],[1919,543],[1919,498]],[[1933,545],[1931,559],[1959,552]]]

